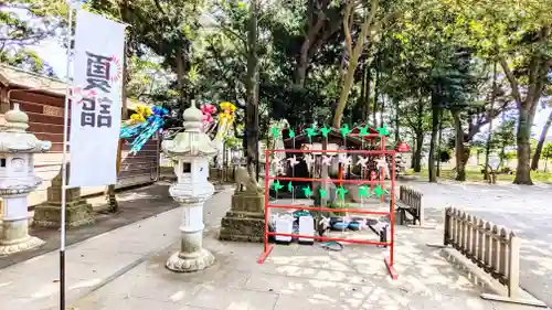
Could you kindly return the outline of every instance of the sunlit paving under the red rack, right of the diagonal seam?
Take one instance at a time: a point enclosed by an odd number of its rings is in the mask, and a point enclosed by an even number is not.
[[[217,240],[217,223],[224,213],[214,204],[209,210],[204,246],[215,254],[214,266],[193,274],[169,271],[164,261],[178,250],[176,242],[73,302],[73,309],[532,309],[480,299],[484,288],[471,284],[439,249],[425,246],[440,240],[436,231],[397,227],[399,279],[392,280],[383,263],[389,250],[374,246],[346,245],[342,252],[326,252],[318,245],[277,245],[265,264],[258,265],[262,245]],[[372,233],[358,236],[374,238]]]

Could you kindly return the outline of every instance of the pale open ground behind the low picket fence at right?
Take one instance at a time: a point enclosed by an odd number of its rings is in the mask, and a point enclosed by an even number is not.
[[[513,229],[522,238],[520,285],[552,307],[552,185],[422,181],[405,183],[423,192],[426,215],[442,222],[448,205]]]

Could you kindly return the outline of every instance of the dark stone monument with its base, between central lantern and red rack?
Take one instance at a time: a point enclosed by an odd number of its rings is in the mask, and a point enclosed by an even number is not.
[[[236,190],[232,195],[232,205],[221,221],[220,239],[234,242],[264,240],[265,195],[255,178],[243,167],[235,172]],[[241,191],[241,188],[245,188]]]

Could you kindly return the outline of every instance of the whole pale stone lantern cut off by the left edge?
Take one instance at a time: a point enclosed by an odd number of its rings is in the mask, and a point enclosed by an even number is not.
[[[0,255],[8,255],[44,244],[29,235],[26,196],[42,180],[34,174],[33,153],[45,152],[50,141],[41,141],[25,132],[29,116],[14,104],[0,131],[0,196],[3,199],[3,222]]]

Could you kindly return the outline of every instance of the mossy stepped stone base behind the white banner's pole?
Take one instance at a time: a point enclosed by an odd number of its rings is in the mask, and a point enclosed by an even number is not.
[[[67,163],[67,180],[70,164]],[[65,196],[65,227],[72,228],[93,224],[92,205],[81,197],[81,189],[70,189]],[[33,225],[39,227],[60,227],[62,215],[62,171],[52,180],[47,189],[47,201],[34,209]]]

